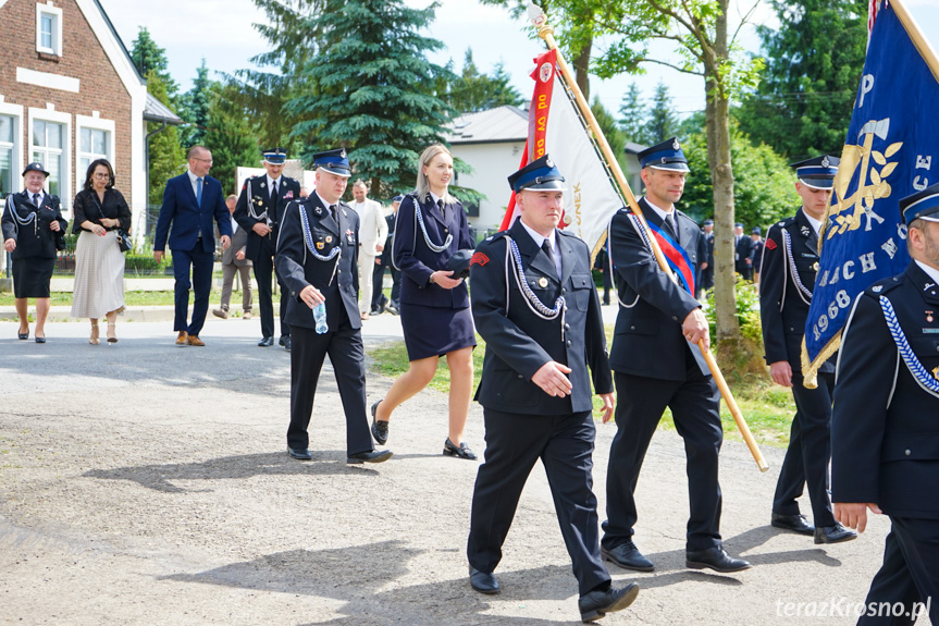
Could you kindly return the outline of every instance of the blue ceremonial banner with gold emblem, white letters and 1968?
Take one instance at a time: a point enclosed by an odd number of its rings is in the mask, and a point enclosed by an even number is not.
[[[806,386],[841,343],[857,294],[910,262],[899,201],[939,182],[939,61],[897,0],[876,15],[831,206],[802,349]]]

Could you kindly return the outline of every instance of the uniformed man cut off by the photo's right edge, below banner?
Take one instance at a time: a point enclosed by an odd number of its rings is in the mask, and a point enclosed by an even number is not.
[[[854,303],[844,327],[831,418],[835,516],[863,532],[867,510],[890,516],[867,606],[914,602],[939,624],[939,184],[900,200],[913,260]],[[893,615],[897,615],[894,610]]]

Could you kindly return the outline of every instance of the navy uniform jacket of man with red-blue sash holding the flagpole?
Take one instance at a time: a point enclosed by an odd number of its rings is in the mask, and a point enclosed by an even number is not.
[[[645,198],[639,200],[639,207],[648,222],[662,226],[662,218]],[[688,253],[694,266],[692,272],[697,275],[697,268],[706,254],[704,233],[684,213],[676,209],[675,214],[678,219],[678,243]],[[622,302],[616,316],[610,367],[632,376],[684,380],[684,348],[689,343],[681,333],[681,324],[701,303],[658,267],[626,209],[620,209],[613,217],[609,248],[616,291]],[[691,352],[701,371],[711,375],[696,345],[691,346]]]

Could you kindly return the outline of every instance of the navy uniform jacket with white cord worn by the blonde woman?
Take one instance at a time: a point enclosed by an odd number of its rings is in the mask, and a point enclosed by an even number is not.
[[[395,226],[394,258],[401,273],[401,297],[405,304],[428,307],[466,308],[469,306],[469,294],[466,281],[452,290],[431,284],[431,274],[437,270],[446,270],[447,259],[457,250],[471,250],[475,247],[469,234],[466,211],[462,205],[447,207],[447,219],[441,214],[440,207],[431,201],[430,196],[420,202],[421,214],[428,229],[428,236],[435,246],[441,246],[447,235],[453,234],[453,242],[443,251],[435,253],[424,242],[420,225],[416,222],[415,207],[417,195],[405,196],[398,207],[397,225]]]

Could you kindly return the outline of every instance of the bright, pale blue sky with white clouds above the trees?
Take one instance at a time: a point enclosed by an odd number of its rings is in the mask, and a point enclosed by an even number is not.
[[[188,89],[196,67],[206,59],[212,70],[232,72],[250,66],[249,59],[267,50],[267,42],[251,26],[264,15],[251,0],[161,0],[140,2],[127,0],[99,0],[114,23],[118,33],[129,48],[139,26],[146,26],[158,45],[166,49],[170,72]],[[427,0],[407,0],[415,7],[427,5]],[[737,15],[745,13],[752,2],[741,0],[734,7]],[[939,49],[939,1],[904,0],[921,29]],[[775,14],[765,2],[757,5],[753,23],[776,24]],[[446,50],[432,60],[444,64],[453,58],[457,70],[462,65],[467,48],[472,48],[477,65],[489,72],[503,62],[512,77],[512,84],[524,97],[531,94],[532,81],[528,77],[531,60],[544,48],[529,38],[531,28],[526,22],[512,20],[504,9],[480,5],[475,0],[445,0],[437,9],[437,19],[429,34],[446,45]],[[744,48],[758,51],[759,40],[752,26],[741,32]],[[656,56],[670,54],[665,44],[653,51]],[[622,94],[635,82],[643,95],[651,97],[655,85],[664,81],[669,86],[672,105],[684,116],[704,108],[703,81],[696,76],[650,65],[642,76],[622,75],[608,81],[591,79],[591,99],[598,96],[603,105],[616,114]]]

